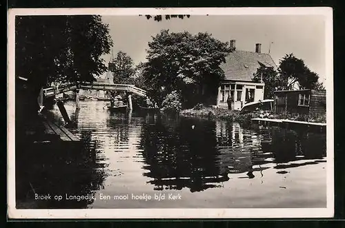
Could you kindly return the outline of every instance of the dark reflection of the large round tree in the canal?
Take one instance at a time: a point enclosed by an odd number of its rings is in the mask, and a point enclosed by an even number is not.
[[[141,147],[148,170],[144,175],[153,178],[149,183],[155,185],[154,189],[188,187],[190,191],[204,191],[221,187],[221,182],[228,180],[219,170],[212,129],[212,121],[184,118],[144,125]]]

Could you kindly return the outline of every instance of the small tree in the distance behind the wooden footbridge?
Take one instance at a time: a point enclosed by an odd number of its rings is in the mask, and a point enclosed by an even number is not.
[[[135,69],[133,67],[133,60],[125,52],[117,52],[115,58],[109,63],[109,70],[113,74],[115,84],[126,84],[134,81]]]

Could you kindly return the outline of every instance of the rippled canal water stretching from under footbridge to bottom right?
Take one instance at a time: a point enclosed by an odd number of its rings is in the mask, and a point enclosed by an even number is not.
[[[105,105],[65,103],[76,123],[70,131],[86,149],[68,152],[70,168],[53,168],[48,178],[63,177],[42,189],[63,200],[40,207],[326,207],[325,134],[111,113]],[[57,107],[52,112],[63,122]],[[87,195],[95,198],[77,200]]]

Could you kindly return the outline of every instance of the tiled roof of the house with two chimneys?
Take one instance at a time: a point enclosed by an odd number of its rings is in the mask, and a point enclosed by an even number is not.
[[[242,50],[230,52],[226,56],[226,63],[221,63],[220,67],[224,70],[226,80],[252,81],[253,74],[257,72],[260,64],[277,68],[269,54]]]

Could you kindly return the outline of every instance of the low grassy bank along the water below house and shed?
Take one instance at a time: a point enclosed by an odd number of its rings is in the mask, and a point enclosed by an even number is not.
[[[268,112],[250,112],[240,114],[236,110],[226,110],[213,107],[193,108],[189,110],[182,110],[181,116],[193,118],[209,118],[220,119],[225,121],[233,121],[237,123],[251,123],[252,118],[275,118],[288,119],[292,121],[308,121],[313,123],[326,123],[326,114],[271,114]]]

